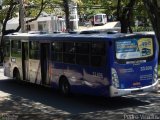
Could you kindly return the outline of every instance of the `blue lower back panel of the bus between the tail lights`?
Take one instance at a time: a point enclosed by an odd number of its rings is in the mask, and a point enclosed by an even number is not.
[[[157,64],[154,62],[140,65],[119,65],[115,64],[120,82],[120,89],[139,88],[151,85],[153,83],[154,68]]]

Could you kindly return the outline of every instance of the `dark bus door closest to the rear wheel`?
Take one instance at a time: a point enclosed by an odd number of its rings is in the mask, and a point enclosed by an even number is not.
[[[41,77],[42,84],[49,85],[49,59],[50,44],[41,43]]]

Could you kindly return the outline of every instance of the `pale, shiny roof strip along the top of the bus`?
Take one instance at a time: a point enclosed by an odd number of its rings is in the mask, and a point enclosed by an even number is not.
[[[29,33],[14,33],[14,34],[9,34],[6,35],[6,37],[16,37],[16,38],[43,38],[43,39],[51,39],[53,37],[56,38],[106,38],[106,40],[108,39],[114,39],[114,38],[121,38],[121,37],[129,37],[129,36],[133,36],[133,35],[153,35],[152,33],[136,33],[136,34],[123,34],[123,33],[116,33],[116,34],[106,34],[106,33],[99,33],[99,34],[69,34],[69,33],[57,33],[57,34],[39,34],[39,33],[35,33],[35,34],[29,34]]]

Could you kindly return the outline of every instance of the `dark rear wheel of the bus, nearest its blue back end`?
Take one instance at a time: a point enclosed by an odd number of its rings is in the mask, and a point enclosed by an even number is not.
[[[66,77],[62,77],[60,79],[59,88],[60,88],[61,94],[67,97],[70,96],[70,84]]]

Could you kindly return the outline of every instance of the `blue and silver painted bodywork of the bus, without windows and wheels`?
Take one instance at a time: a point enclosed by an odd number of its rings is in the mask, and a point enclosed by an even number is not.
[[[61,36],[61,35],[57,35]],[[21,59],[19,57],[5,58],[4,62],[4,74],[9,77],[13,77],[13,71],[17,68],[20,72],[21,79],[24,78],[23,74],[26,73],[26,79],[29,82],[41,85],[47,85],[50,87],[59,88],[59,80],[62,76],[65,76],[71,86],[71,92],[73,93],[85,93],[97,96],[122,96],[132,94],[136,92],[153,91],[156,89],[158,82],[153,80],[153,77],[157,75],[155,70],[157,69],[158,60],[158,46],[157,41],[154,39],[154,54],[153,59],[150,61],[135,60],[136,64],[127,63],[121,64],[117,62],[115,58],[115,41],[117,39],[130,38],[127,35],[122,37],[121,35],[115,35],[115,37],[99,37],[98,35],[92,36],[65,36],[57,37],[44,35],[33,35],[31,38],[26,37],[22,39],[29,39],[29,42],[38,42],[40,56],[38,59]],[[74,35],[73,35],[74,36]],[[132,38],[137,35],[131,35]],[[12,36],[11,36],[12,37]],[[14,36],[13,39],[17,40]],[[140,36],[140,37],[143,37]],[[146,36],[144,36],[146,37]],[[21,38],[21,36],[20,36]],[[20,39],[19,38],[19,39]],[[101,38],[101,39],[100,39]],[[44,42],[44,40],[46,41]],[[101,67],[93,67],[91,63],[89,65],[78,65],[75,63],[55,62],[52,60],[53,51],[51,45],[55,41],[69,41],[69,42],[84,42],[84,40],[94,42],[106,43],[105,62],[106,64]],[[63,44],[64,45],[64,44]],[[28,44],[29,53],[31,52],[30,43]],[[64,47],[64,46],[63,46]],[[98,48],[97,48],[98,49]],[[96,51],[97,51],[96,49]],[[90,47],[91,50],[91,47]],[[91,52],[91,51],[90,51]],[[103,51],[102,51],[103,52]],[[143,49],[143,52],[148,54],[148,49]],[[22,53],[23,54],[23,53]],[[77,54],[77,53],[76,53]],[[89,54],[90,56],[92,54]],[[94,54],[95,55],[95,54]],[[94,56],[92,55],[92,56]],[[22,56],[21,56],[22,57]],[[97,55],[96,57],[99,57]],[[100,55],[103,59],[103,55]],[[91,60],[92,57],[89,59]],[[95,58],[95,57],[94,57]],[[93,59],[93,58],[92,58]],[[28,68],[25,69],[22,65],[25,63]],[[91,62],[91,61],[90,61]],[[130,61],[129,61],[130,62]],[[43,70],[42,70],[43,69]],[[119,86],[114,86],[113,77],[118,76]],[[45,75],[44,75],[45,74]],[[116,77],[117,77],[116,76]],[[42,79],[45,79],[42,80]],[[116,78],[117,79],[117,78]]]

